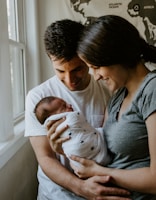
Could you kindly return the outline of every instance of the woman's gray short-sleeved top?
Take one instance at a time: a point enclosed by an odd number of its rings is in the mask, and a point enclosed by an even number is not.
[[[109,117],[105,122],[104,135],[113,155],[113,161],[108,166],[120,169],[146,167],[150,165],[150,156],[145,121],[156,112],[156,71],[145,77],[132,103],[118,119],[126,93],[126,88],[120,89],[108,105]],[[150,200],[156,197],[132,192],[132,199]]]

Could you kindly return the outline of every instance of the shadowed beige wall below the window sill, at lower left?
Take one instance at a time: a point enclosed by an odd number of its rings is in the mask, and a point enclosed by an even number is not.
[[[36,200],[37,162],[29,142],[0,170],[1,200]]]

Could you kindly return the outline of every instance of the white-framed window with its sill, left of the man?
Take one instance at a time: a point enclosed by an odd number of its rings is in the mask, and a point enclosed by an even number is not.
[[[40,80],[37,3],[0,1],[0,169],[28,141],[25,96]]]

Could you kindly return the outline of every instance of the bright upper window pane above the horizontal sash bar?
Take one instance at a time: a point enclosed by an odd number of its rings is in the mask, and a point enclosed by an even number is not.
[[[16,7],[14,0],[7,0],[7,13],[8,13],[8,32],[9,38],[17,40],[17,23],[16,23]]]

